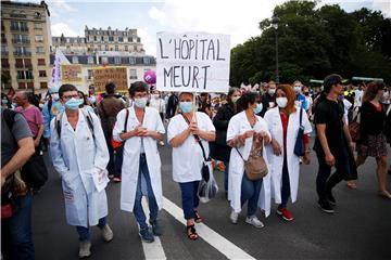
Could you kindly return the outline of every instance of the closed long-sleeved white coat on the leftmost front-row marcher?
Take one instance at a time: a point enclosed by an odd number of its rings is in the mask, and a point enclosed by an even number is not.
[[[67,223],[86,227],[88,224],[97,225],[99,219],[108,216],[105,191],[97,191],[92,174],[99,169],[105,170],[109,151],[99,118],[92,113],[90,115],[94,140],[81,109],[76,130],[66,114],[62,114],[61,139],[56,131],[56,118],[50,125],[51,158],[62,178]]]

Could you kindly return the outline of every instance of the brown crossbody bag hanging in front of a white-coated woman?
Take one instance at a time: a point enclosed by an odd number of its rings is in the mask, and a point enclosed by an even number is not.
[[[235,147],[242,160],[244,161],[244,172],[250,181],[257,181],[267,176],[268,169],[266,161],[263,157],[263,139],[255,140],[253,138],[253,144],[250,151],[248,160],[244,160],[243,156],[237,147]]]

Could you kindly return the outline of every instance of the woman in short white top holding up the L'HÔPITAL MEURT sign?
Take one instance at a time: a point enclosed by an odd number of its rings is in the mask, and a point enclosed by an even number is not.
[[[180,93],[179,108],[181,114],[169,120],[167,129],[168,143],[173,146],[173,178],[181,191],[187,235],[190,239],[198,239],[194,221],[201,222],[202,218],[197,210],[197,192],[204,160],[199,142],[209,157],[207,142],[214,141],[216,134],[211,118],[205,113],[194,113],[192,93]]]

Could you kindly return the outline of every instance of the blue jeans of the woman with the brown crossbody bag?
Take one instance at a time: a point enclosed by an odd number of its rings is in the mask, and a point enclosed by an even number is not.
[[[240,202],[241,207],[243,207],[244,203],[248,202],[248,217],[255,216],[257,200],[260,198],[260,192],[262,187],[262,180],[263,179],[257,181],[250,181],[245,173],[243,173]]]

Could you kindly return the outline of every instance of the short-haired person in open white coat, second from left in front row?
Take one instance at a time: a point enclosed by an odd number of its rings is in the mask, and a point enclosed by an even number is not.
[[[130,84],[129,96],[134,105],[117,115],[113,136],[124,142],[124,160],[121,184],[121,209],[135,213],[142,240],[152,243],[153,235],[161,235],[157,212],[163,206],[161,159],[157,141],[165,133],[159,112],[147,107],[148,87],[142,81]],[[141,206],[143,190],[147,186],[150,209],[149,222]]]

